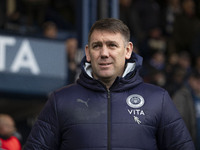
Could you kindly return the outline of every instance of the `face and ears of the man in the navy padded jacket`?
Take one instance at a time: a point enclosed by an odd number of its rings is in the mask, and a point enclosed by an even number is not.
[[[91,62],[95,79],[112,84],[122,76],[125,60],[131,57],[133,44],[125,42],[120,33],[94,30],[85,48],[86,58]]]

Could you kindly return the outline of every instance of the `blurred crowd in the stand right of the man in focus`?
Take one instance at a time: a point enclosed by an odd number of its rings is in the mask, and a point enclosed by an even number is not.
[[[145,82],[165,88],[200,150],[200,1],[120,0]]]

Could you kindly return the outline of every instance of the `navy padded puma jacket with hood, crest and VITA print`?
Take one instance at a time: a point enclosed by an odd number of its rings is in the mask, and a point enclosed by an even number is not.
[[[109,90],[85,63],[77,83],[50,96],[24,150],[194,150],[168,93],[140,78],[141,57]]]

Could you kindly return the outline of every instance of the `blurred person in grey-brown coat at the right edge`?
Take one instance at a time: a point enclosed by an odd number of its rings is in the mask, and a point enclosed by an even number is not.
[[[173,101],[200,150],[200,73],[193,71],[186,83],[174,94]]]

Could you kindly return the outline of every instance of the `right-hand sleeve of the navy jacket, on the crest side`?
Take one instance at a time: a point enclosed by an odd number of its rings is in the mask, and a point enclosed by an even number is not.
[[[159,150],[195,150],[185,123],[166,91],[163,94],[161,113],[157,132]]]

